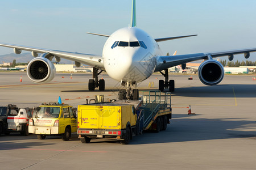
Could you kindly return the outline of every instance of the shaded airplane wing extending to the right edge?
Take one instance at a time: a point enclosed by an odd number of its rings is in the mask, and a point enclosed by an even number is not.
[[[197,53],[197,54],[185,54],[177,56],[159,56],[157,58],[156,71],[168,69],[173,66],[181,65],[183,63],[197,61],[200,59],[211,59],[215,57],[229,56],[233,59],[234,54],[244,54],[245,58],[249,58],[250,52],[256,52],[256,48],[239,49],[239,50],[227,50],[224,52],[212,52],[212,53]]]

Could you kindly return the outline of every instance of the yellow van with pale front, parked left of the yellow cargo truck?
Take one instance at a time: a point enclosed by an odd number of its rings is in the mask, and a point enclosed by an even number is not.
[[[37,134],[38,139],[45,139],[47,135],[61,135],[63,141],[68,141],[76,130],[75,109],[68,104],[56,103],[36,108],[28,126],[29,133]]]

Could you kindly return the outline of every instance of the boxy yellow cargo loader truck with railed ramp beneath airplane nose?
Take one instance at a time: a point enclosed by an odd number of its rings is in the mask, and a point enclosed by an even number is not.
[[[172,115],[171,93],[143,91],[141,100],[79,105],[77,134],[82,143],[91,139],[115,138],[128,144],[143,130],[166,130]]]

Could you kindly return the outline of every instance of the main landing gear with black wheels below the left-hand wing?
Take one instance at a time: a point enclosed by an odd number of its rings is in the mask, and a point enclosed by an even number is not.
[[[94,91],[95,87],[98,87],[100,91],[105,90],[105,80],[100,79],[98,80],[98,75],[102,73],[102,70],[96,69],[93,67],[93,79],[89,79],[88,88],[89,91]]]

